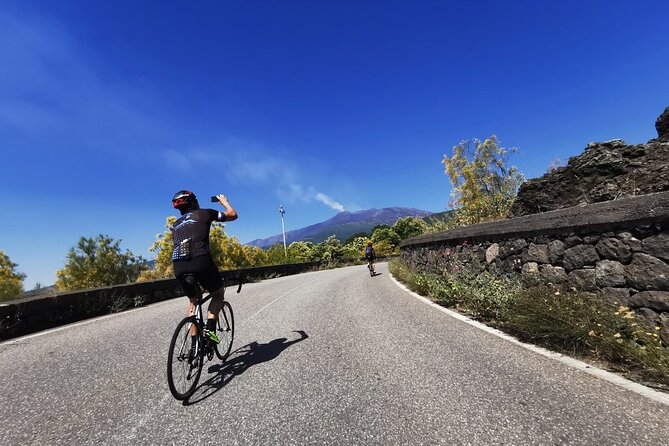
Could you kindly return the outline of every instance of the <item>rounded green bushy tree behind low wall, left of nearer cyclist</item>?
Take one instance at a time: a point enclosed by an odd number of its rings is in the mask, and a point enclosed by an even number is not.
[[[58,290],[134,282],[147,268],[146,262],[128,250],[121,252],[120,244],[120,240],[102,234],[96,238],[81,237],[67,254],[65,267],[56,273]]]

